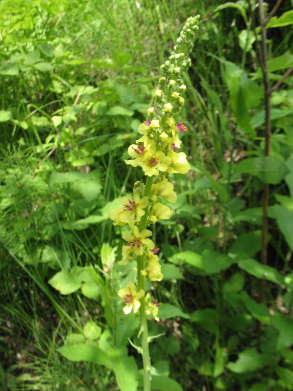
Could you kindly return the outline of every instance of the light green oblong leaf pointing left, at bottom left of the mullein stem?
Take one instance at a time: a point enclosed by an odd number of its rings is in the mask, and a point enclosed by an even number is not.
[[[112,363],[105,352],[96,346],[87,344],[64,345],[57,351],[71,361],[87,361],[111,368]]]

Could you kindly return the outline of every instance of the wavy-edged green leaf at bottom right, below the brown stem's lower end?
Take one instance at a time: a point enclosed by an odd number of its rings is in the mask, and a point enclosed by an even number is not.
[[[260,354],[256,348],[251,348],[239,353],[237,361],[228,363],[227,368],[235,373],[251,372],[263,368],[269,360],[268,355]]]

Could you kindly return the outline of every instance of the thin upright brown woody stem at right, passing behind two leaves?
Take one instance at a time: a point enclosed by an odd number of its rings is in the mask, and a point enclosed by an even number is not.
[[[280,1],[279,1],[280,2]],[[275,7],[274,7],[275,8]],[[266,20],[264,17],[263,10],[263,1],[258,0],[258,10],[259,10],[259,21],[261,28],[261,68],[263,72],[263,81],[265,87],[265,156],[270,155],[270,141],[271,141],[271,105],[270,105],[270,97],[271,97],[271,89],[270,89],[270,81],[268,74],[268,52],[267,52],[267,30],[266,30]],[[270,194],[270,186],[268,183],[264,184],[263,189],[263,220],[262,220],[262,238],[261,238],[261,262],[263,264],[267,263],[267,240],[268,240],[268,231],[269,231],[269,223],[268,223],[268,207],[269,207],[269,194]],[[265,296],[265,280],[262,280],[260,287],[260,301],[264,300]]]

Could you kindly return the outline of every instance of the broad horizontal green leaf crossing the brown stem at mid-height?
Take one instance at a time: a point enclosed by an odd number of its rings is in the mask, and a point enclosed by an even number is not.
[[[274,157],[252,157],[234,167],[234,173],[257,175],[265,183],[278,184],[288,173],[288,167]]]

